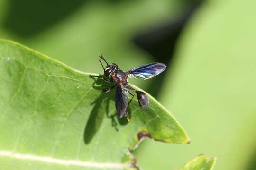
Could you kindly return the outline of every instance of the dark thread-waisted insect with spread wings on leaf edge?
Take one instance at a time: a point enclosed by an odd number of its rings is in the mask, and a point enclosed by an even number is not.
[[[103,89],[103,92],[108,93],[114,87],[116,87],[116,111],[119,118],[122,118],[123,116],[127,117],[129,120],[128,112],[126,111],[128,108],[128,105],[132,101],[134,95],[129,92],[129,90],[134,91],[137,94],[138,103],[141,109],[146,109],[149,106],[149,99],[146,95],[146,93],[138,91],[134,88],[132,88],[128,84],[128,77],[138,77],[142,78],[144,80],[152,78],[160,73],[162,73],[166,65],[162,63],[150,63],[142,66],[138,66],[136,68],[130,69],[127,72],[122,71],[120,68],[118,68],[117,64],[112,63],[109,64],[101,54],[100,58],[106,62],[107,66],[104,67],[101,59],[99,60],[101,63],[101,66],[104,70],[104,76],[101,77],[106,82],[115,82],[115,85],[108,89]],[[98,77],[98,76],[95,76]],[[132,98],[129,100],[129,94],[132,96]]]

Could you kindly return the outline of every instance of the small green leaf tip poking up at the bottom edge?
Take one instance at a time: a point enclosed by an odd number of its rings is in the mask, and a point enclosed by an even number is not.
[[[213,170],[215,163],[215,157],[208,159],[205,155],[202,154],[187,162],[179,170]]]

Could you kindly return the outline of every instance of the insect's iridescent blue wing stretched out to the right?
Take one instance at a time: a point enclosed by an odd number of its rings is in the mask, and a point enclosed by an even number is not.
[[[137,76],[139,78],[143,78],[144,80],[146,80],[162,73],[165,70],[165,68],[165,64],[150,63],[138,66],[137,68],[133,68],[129,70],[127,73],[129,77]]]

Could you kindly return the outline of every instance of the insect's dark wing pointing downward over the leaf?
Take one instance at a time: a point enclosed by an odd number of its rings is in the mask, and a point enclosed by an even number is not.
[[[127,89],[117,85],[116,88],[116,110],[119,118],[122,118],[126,112],[129,102],[129,92]]]

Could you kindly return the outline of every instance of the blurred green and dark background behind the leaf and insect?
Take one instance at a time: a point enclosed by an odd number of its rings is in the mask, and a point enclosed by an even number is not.
[[[123,70],[167,65],[131,80],[180,121],[191,144],[146,140],[144,170],[174,170],[200,153],[216,170],[256,170],[256,1],[0,0],[0,38],[85,72],[98,55]]]

